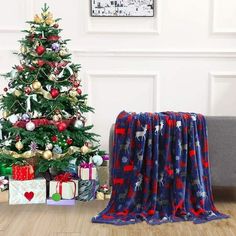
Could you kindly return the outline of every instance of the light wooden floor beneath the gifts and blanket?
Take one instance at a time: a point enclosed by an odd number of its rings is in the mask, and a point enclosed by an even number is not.
[[[0,193],[0,236],[232,236],[236,235],[236,201],[216,201],[231,218],[194,225],[192,222],[150,226],[92,224],[91,217],[107,201],[78,202],[73,207],[47,205],[9,206],[7,192]]]

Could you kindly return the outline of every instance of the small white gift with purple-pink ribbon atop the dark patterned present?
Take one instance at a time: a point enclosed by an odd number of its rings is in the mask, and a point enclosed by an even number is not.
[[[78,174],[82,180],[97,179],[97,168],[93,163],[81,163],[78,167]]]

